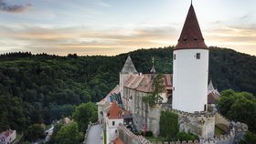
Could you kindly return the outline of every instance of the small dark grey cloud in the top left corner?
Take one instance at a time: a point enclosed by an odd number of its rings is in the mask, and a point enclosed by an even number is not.
[[[5,0],[0,0],[0,11],[8,12],[8,13],[22,13],[27,10],[27,8],[31,6],[28,5],[10,5]]]

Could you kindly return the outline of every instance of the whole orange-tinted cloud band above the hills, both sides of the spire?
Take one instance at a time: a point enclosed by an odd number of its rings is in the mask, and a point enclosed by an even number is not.
[[[23,48],[33,53],[64,56],[69,53],[112,56],[137,48],[175,46],[179,33],[176,26],[169,24],[129,28],[119,26],[101,30],[88,26],[0,26],[0,37],[5,37],[1,39],[5,45],[0,49]],[[203,33],[208,46],[225,46],[256,55],[253,51],[256,46],[255,25],[217,27]]]

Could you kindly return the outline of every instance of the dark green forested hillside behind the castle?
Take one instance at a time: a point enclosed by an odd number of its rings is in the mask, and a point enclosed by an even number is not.
[[[228,48],[209,47],[209,79],[222,91],[256,96],[256,57]],[[0,131],[22,131],[35,123],[71,116],[76,106],[97,102],[118,84],[126,57],[148,73],[155,57],[157,73],[172,73],[173,46],[139,49],[114,57],[67,57],[16,52],[0,56]]]

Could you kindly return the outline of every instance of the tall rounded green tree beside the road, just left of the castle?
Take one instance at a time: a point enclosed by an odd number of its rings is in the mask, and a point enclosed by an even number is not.
[[[89,122],[96,122],[98,119],[97,106],[92,102],[82,103],[76,108],[73,118],[78,123],[80,131],[85,132]]]

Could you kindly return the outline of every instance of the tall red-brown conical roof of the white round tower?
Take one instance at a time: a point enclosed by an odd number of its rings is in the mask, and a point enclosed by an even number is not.
[[[192,5],[192,1],[178,43],[174,48],[174,50],[178,49],[208,49],[197,22],[197,15]]]

